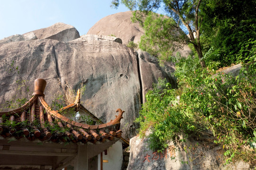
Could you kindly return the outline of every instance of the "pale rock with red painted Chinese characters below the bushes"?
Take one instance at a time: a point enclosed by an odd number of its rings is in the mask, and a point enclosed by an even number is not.
[[[186,148],[186,151],[185,149]],[[203,145],[193,138],[186,144],[170,143],[162,153],[148,149],[147,139],[138,136],[130,140],[130,157],[127,170],[249,170],[245,162],[223,165],[220,147]],[[193,161],[192,161],[193,160]]]

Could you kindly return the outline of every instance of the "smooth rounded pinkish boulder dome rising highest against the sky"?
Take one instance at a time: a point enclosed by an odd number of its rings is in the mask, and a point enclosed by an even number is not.
[[[115,35],[123,41],[123,44],[140,41],[144,30],[139,23],[131,22],[132,11],[119,12],[104,17],[92,26],[87,34]]]

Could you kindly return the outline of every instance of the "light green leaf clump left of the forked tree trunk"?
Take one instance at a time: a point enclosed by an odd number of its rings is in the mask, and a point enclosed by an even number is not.
[[[172,53],[185,42],[187,36],[177,27],[174,19],[154,12],[148,12],[143,28],[145,35],[141,37],[139,48],[151,55],[157,56],[160,63],[172,59]]]

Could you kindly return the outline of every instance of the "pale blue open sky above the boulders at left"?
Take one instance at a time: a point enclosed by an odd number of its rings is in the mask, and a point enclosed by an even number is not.
[[[62,22],[86,34],[103,17],[128,11],[123,5],[111,8],[111,0],[2,0],[0,39],[24,34]]]

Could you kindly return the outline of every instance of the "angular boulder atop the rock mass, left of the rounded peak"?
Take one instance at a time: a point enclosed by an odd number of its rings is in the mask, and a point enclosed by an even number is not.
[[[80,37],[77,29],[74,26],[64,23],[56,23],[47,28],[34,30],[33,33],[40,40],[52,39],[60,42],[68,42]]]

